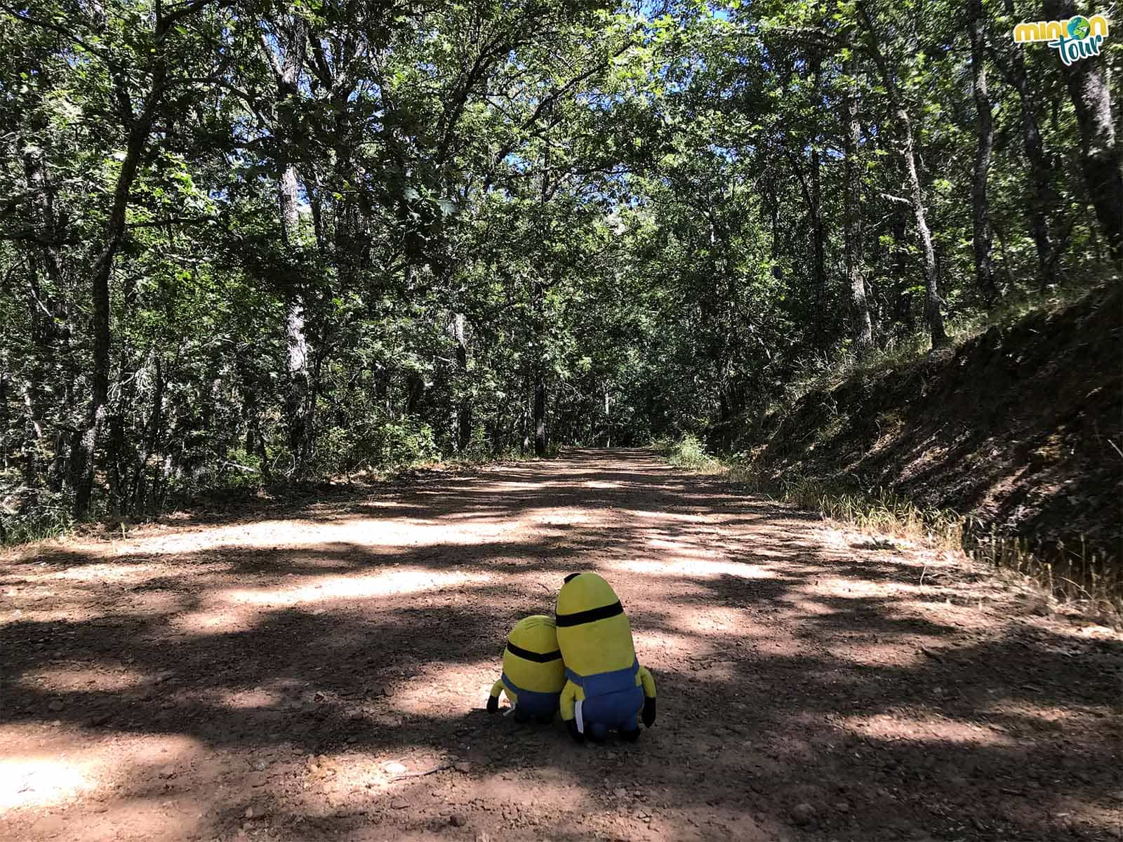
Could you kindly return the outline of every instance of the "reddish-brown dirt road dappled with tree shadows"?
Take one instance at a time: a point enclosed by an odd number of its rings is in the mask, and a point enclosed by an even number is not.
[[[658,681],[634,745],[484,711],[584,569]],[[24,548],[0,593],[12,842],[1123,836],[1119,635],[646,451]]]

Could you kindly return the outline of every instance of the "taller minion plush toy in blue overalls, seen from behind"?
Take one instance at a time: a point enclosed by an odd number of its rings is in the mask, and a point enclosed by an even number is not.
[[[615,729],[632,741],[640,716],[651,727],[655,679],[636,660],[631,625],[612,586],[595,573],[566,576],[555,622],[567,679],[562,719],[569,735],[599,742]]]

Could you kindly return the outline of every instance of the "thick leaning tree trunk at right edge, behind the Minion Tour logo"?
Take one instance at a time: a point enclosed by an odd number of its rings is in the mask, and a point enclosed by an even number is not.
[[[1046,17],[1074,17],[1071,0],[1046,0]],[[1107,89],[1105,57],[1089,56],[1061,64],[1080,127],[1080,168],[1092,205],[1115,263],[1123,264],[1123,146],[1116,143]]]

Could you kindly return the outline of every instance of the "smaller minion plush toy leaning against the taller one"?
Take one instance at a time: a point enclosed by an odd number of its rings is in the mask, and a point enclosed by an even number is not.
[[[533,614],[511,630],[503,650],[503,675],[492,685],[487,713],[499,711],[499,694],[514,707],[514,721],[549,724],[558,711],[558,695],[565,684],[565,667],[558,650],[554,617]]]

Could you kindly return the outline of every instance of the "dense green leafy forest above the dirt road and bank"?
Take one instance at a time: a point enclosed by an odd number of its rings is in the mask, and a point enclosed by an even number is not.
[[[704,433],[1117,278],[1123,51],[1011,37],[1077,11],[4,3],[4,511]]]

